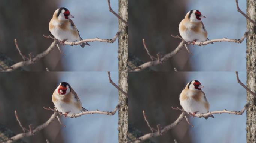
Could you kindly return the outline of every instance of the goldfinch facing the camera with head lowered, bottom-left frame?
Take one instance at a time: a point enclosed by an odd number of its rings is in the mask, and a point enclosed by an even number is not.
[[[68,113],[76,114],[88,111],[82,107],[76,92],[67,82],[61,82],[52,94],[52,102],[58,111],[67,116]]]

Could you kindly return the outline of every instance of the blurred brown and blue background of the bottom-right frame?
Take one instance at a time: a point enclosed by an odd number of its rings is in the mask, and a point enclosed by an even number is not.
[[[246,72],[239,72],[246,83]],[[151,133],[142,111],[152,127],[173,123],[180,111],[179,95],[191,80],[204,86],[210,111],[240,111],[246,104],[246,90],[237,83],[235,72],[133,72],[129,73],[129,125],[143,134]],[[214,114],[215,118],[193,118],[192,128],[182,120],[163,136],[152,138],[155,143],[243,143],[246,141],[246,113],[243,115]]]

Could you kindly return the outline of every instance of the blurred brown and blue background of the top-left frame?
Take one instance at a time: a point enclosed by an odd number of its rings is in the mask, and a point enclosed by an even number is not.
[[[118,1],[111,1],[112,9],[118,12]],[[73,22],[83,39],[112,39],[118,31],[118,19],[109,12],[107,0],[2,0],[0,5],[0,53],[14,60],[22,61],[15,47],[14,39],[24,55],[33,55],[46,50],[52,39],[43,37],[51,35],[48,25],[54,11],[66,7],[75,17]],[[91,46],[61,46],[66,54],[57,48],[37,61],[24,67],[27,71],[118,71],[118,41],[89,42]]]

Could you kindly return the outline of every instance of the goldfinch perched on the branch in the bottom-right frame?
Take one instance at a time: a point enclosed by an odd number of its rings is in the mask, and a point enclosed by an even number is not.
[[[180,105],[187,113],[193,116],[209,112],[210,105],[201,90],[203,87],[199,81],[192,80],[180,93]],[[214,118],[213,115],[208,117]],[[205,117],[205,119],[208,119],[208,117]]]

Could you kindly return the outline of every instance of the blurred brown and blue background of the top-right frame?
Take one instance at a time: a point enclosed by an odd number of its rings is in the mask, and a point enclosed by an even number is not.
[[[239,7],[246,12],[246,1]],[[152,55],[165,55],[173,51],[180,39],[179,23],[189,10],[197,9],[207,18],[202,19],[209,39],[240,39],[246,31],[246,19],[234,0],[129,0],[129,54],[150,61],[143,47],[144,38]],[[246,41],[241,44],[215,42],[206,46],[189,46],[164,64],[151,67],[155,71],[246,71]]]

